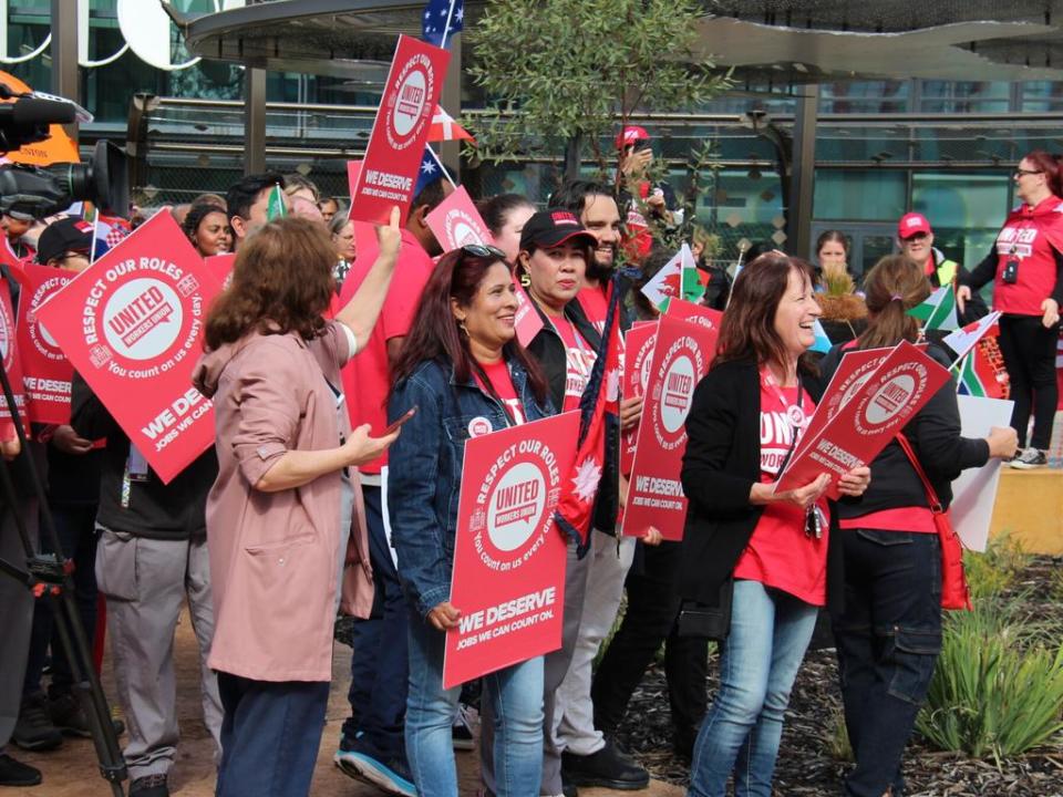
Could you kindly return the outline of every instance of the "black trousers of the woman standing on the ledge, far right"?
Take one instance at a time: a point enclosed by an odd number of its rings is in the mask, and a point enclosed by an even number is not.
[[[1052,421],[1060,400],[1055,381],[1055,349],[1060,325],[1045,329],[1040,315],[1001,315],[1000,353],[1011,381],[1011,425],[1019,433],[1019,447],[1026,445],[1026,426],[1033,412],[1030,445],[1046,451]]]

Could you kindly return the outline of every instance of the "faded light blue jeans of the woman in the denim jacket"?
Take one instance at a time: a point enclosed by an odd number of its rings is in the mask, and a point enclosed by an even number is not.
[[[451,725],[461,686],[443,689],[445,636],[410,612],[406,756],[420,797],[457,797]],[[494,722],[495,794],[538,797],[543,777],[543,656],[485,675]]]

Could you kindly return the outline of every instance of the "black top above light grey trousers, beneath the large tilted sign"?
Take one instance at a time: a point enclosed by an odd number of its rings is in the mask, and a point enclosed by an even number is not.
[[[70,424],[82,437],[107,438],[100,478],[100,509],[96,521],[113,531],[137,537],[183,540],[206,534],[207,493],[218,475],[218,457],[210,446],[174,479],[164,485],[154,470],[144,482],[130,480],[128,499],[122,490],[130,438],[93,394],[80,374],[71,387]]]

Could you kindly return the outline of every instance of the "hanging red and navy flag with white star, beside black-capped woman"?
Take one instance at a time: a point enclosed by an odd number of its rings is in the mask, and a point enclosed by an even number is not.
[[[579,400],[579,439],[572,473],[561,482],[554,519],[576,541],[580,557],[590,546],[590,522],[603,475],[617,478],[620,427],[620,300],[627,273],[609,283],[606,325],[597,358]],[[613,442],[615,445],[611,445]],[[616,448],[616,451],[613,451]]]

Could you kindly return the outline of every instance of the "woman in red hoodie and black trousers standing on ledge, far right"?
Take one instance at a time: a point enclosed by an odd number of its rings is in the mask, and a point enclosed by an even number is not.
[[[1000,350],[1015,407],[1011,425],[1022,451],[1012,467],[1046,464],[1052,421],[1059,403],[1055,349],[1063,304],[1063,172],[1059,158],[1036,149],[1019,162],[1013,179],[1022,204],[1008,214],[993,249],[966,278],[957,303],[993,280],[993,309],[1000,310]],[[1033,434],[1026,426],[1033,413]]]

